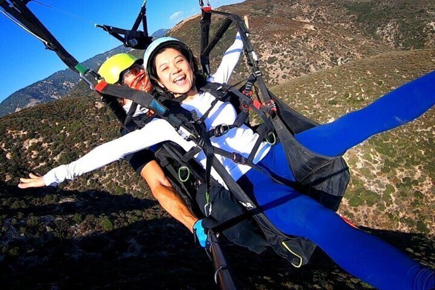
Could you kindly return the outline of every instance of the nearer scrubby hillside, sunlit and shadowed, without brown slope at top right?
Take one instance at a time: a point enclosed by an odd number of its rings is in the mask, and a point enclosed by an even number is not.
[[[433,70],[434,58],[434,50],[384,53],[293,79],[273,91],[314,120],[326,122]],[[350,150],[346,159],[352,182],[340,208],[365,230],[428,265],[435,264],[434,118],[432,109],[416,122]],[[0,182],[0,270],[5,285],[213,286],[206,255],[125,162],[58,189],[19,190],[13,185],[19,176],[43,174],[115,138],[117,127],[92,95],[25,109],[1,120],[5,182]],[[225,250],[242,288],[370,288],[320,250],[301,269],[271,252],[256,256],[234,246]]]

